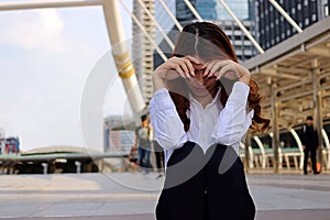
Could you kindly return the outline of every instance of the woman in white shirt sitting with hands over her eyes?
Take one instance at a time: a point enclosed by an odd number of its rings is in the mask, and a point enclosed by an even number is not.
[[[254,219],[238,150],[250,127],[270,121],[228,36],[209,22],[186,25],[153,81],[150,114],[166,165],[157,220]]]

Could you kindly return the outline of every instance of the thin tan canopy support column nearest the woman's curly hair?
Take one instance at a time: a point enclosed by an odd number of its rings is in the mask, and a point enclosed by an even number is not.
[[[279,146],[279,129],[278,129],[278,118],[279,118],[279,103],[277,102],[277,92],[276,92],[276,84],[271,85],[271,101],[272,101],[272,128],[273,128],[273,139],[272,139],[272,147],[273,147],[273,166],[274,173],[278,173],[279,170],[279,155],[278,155],[278,146]]]

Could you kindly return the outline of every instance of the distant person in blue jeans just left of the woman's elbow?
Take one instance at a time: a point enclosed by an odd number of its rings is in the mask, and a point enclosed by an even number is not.
[[[144,174],[150,172],[150,154],[151,154],[151,124],[147,117],[141,117],[141,125],[135,130],[135,146],[139,151],[139,165],[142,167]]]

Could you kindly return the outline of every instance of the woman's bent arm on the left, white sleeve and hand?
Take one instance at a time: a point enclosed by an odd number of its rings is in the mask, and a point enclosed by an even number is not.
[[[170,57],[153,74],[155,95],[150,102],[150,118],[156,140],[165,150],[180,147],[187,142],[184,124],[166,87],[167,80],[195,75],[193,63],[200,64],[191,56]]]

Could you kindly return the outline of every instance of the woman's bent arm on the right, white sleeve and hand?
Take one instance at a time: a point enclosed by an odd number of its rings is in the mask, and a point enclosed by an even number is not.
[[[254,113],[254,111],[248,112],[246,108],[250,72],[233,61],[222,59],[207,63],[205,76],[216,76],[219,80],[221,77],[238,80],[233,85],[226,107],[219,114],[212,139],[224,145],[239,143],[251,125]]]

